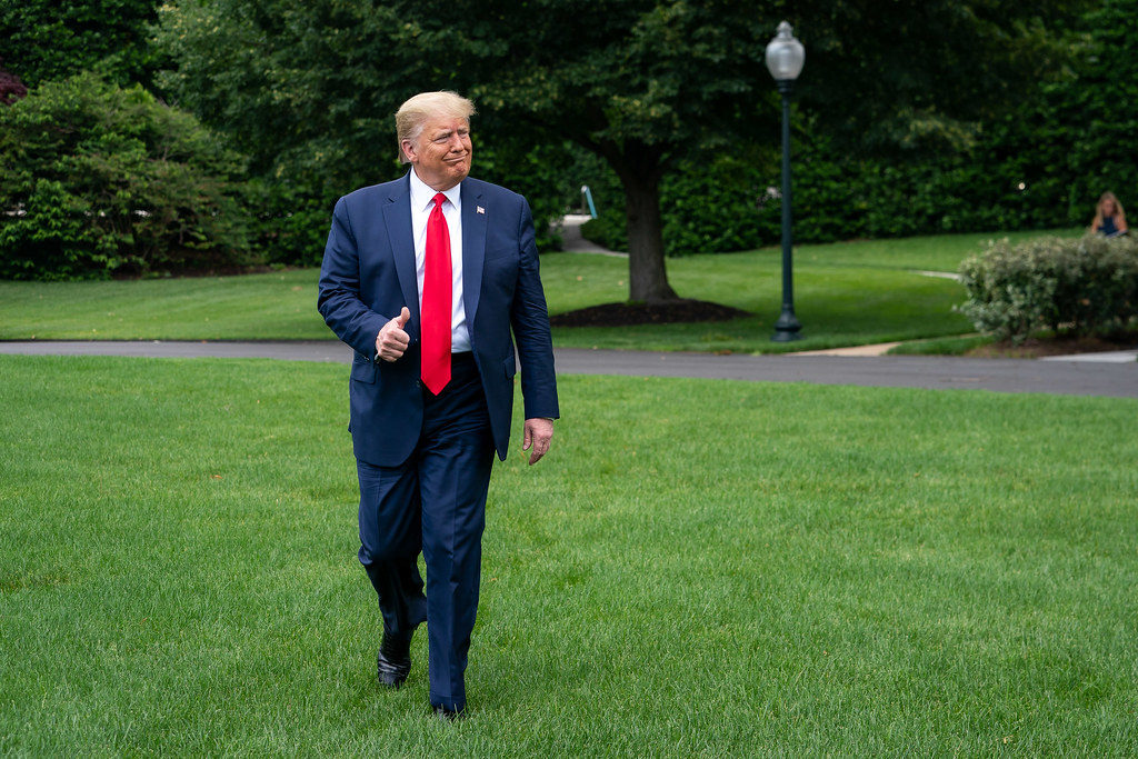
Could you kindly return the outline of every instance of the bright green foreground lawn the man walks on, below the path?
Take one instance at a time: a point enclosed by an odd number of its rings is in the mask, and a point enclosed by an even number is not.
[[[471,716],[373,679],[347,369],[0,357],[0,752],[1124,756],[1138,402],[562,378]]]

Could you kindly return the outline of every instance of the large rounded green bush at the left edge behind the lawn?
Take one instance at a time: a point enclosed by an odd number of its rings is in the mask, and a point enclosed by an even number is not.
[[[92,74],[0,108],[0,278],[247,263],[240,165],[189,114]]]

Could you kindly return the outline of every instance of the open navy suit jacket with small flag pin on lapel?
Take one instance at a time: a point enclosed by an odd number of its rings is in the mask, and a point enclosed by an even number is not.
[[[467,327],[494,447],[504,460],[517,373],[514,339],[526,419],[559,415],[550,321],[529,204],[476,179],[463,180],[461,188]],[[376,337],[403,306],[411,311],[404,327],[411,338],[407,350],[395,362],[378,360]],[[336,336],[355,349],[348,395],[356,457],[378,467],[403,463],[419,440],[423,416],[410,174],[336,203],[318,307]]]

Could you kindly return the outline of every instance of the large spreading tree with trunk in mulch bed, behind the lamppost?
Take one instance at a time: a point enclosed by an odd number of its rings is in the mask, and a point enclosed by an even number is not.
[[[966,141],[1047,71],[1050,25],[1080,3],[1040,0],[183,0],[162,40],[170,85],[255,155],[373,170],[407,94],[454,88],[484,126],[569,139],[602,156],[626,195],[633,300],[675,298],[660,180],[693,151],[778,139],[762,59],[783,17],[807,46],[815,125],[847,149]],[[378,146],[381,146],[378,147]],[[371,165],[369,166],[369,162]],[[357,172],[358,173],[358,172]]]

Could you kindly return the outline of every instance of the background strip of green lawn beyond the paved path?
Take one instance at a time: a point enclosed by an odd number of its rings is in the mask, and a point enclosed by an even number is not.
[[[1074,233],[1065,231],[1062,233]],[[1032,233],[1019,233],[1015,238]],[[1039,233],[1034,233],[1039,234]],[[942,337],[972,325],[954,314],[964,299],[951,280],[913,270],[955,271],[988,234],[802,246],[795,306],[807,338],[769,341],[781,304],[781,254],[762,250],[670,259],[675,289],[753,314],[715,324],[556,329],[559,346],[659,350],[772,352]],[[550,311],[628,297],[627,262],[584,254],[542,258]],[[315,270],[134,282],[0,282],[0,339],[325,339],[315,311]]]

